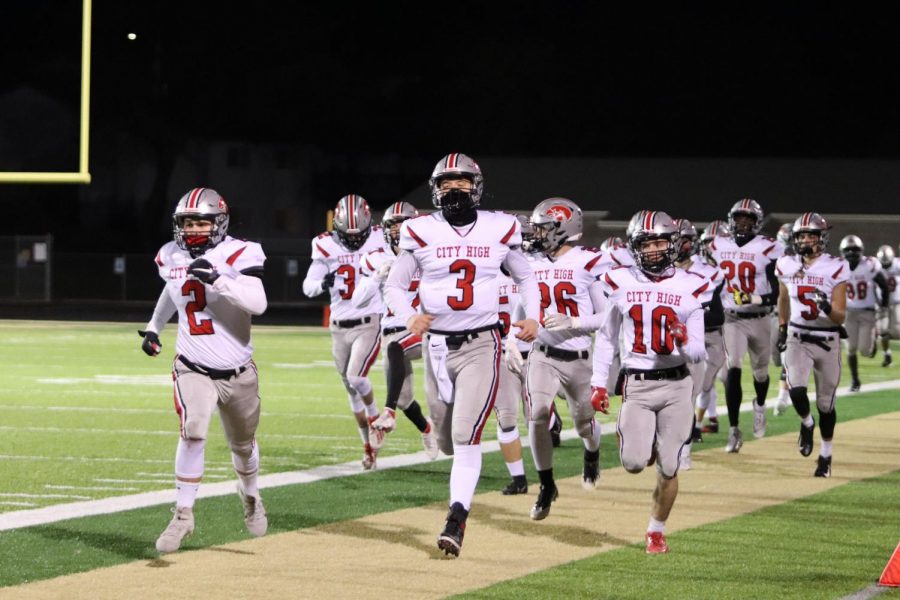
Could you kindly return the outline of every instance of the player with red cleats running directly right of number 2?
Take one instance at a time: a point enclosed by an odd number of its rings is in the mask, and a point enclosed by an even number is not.
[[[303,293],[314,298],[327,293],[331,299],[331,353],[350,400],[350,410],[363,443],[362,466],[374,469],[384,432],[370,428],[378,418],[378,406],[369,381],[369,369],[381,349],[381,298],[364,308],[353,306],[360,276],[360,259],[381,247],[380,236],[371,235],[372,212],[365,198],[348,194],[334,209],[334,231],[312,241],[312,264],[303,280]]]

